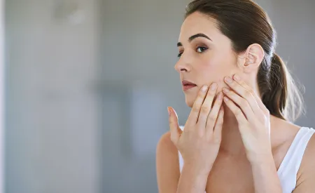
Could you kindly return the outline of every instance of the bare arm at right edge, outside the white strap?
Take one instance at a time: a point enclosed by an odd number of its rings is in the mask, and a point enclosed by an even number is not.
[[[315,135],[309,140],[302,163],[297,173],[296,188],[293,193],[309,193],[315,189]]]

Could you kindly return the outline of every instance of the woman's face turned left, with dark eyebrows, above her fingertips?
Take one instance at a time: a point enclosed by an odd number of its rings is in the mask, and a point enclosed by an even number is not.
[[[225,76],[239,72],[237,55],[232,51],[232,44],[227,36],[221,34],[216,21],[199,12],[189,15],[184,20],[179,34],[179,61],[175,69],[181,81],[190,81],[197,86],[183,87],[186,103],[193,107],[197,93],[204,85],[218,84],[218,92],[225,85]]]

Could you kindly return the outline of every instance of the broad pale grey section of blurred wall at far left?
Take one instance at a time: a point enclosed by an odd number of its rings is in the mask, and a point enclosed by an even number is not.
[[[97,1],[6,1],[6,192],[97,192]],[[62,2],[62,1],[59,1]],[[73,1],[76,2],[76,1]]]

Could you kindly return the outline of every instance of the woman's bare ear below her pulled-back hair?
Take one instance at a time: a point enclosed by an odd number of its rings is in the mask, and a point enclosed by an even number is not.
[[[264,49],[259,44],[251,44],[244,53],[239,55],[239,67],[241,67],[245,73],[256,71],[264,57]]]

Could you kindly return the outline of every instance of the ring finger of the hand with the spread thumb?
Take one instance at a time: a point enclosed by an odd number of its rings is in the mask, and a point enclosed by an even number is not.
[[[218,112],[220,111],[220,108],[222,106],[222,100],[223,100],[223,93],[218,93],[218,97],[216,98],[216,102],[214,102],[214,107],[211,109],[211,112],[207,119],[207,136],[211,136],[214,133],[214,126],[216,124],[216,121],[218,119]]]

